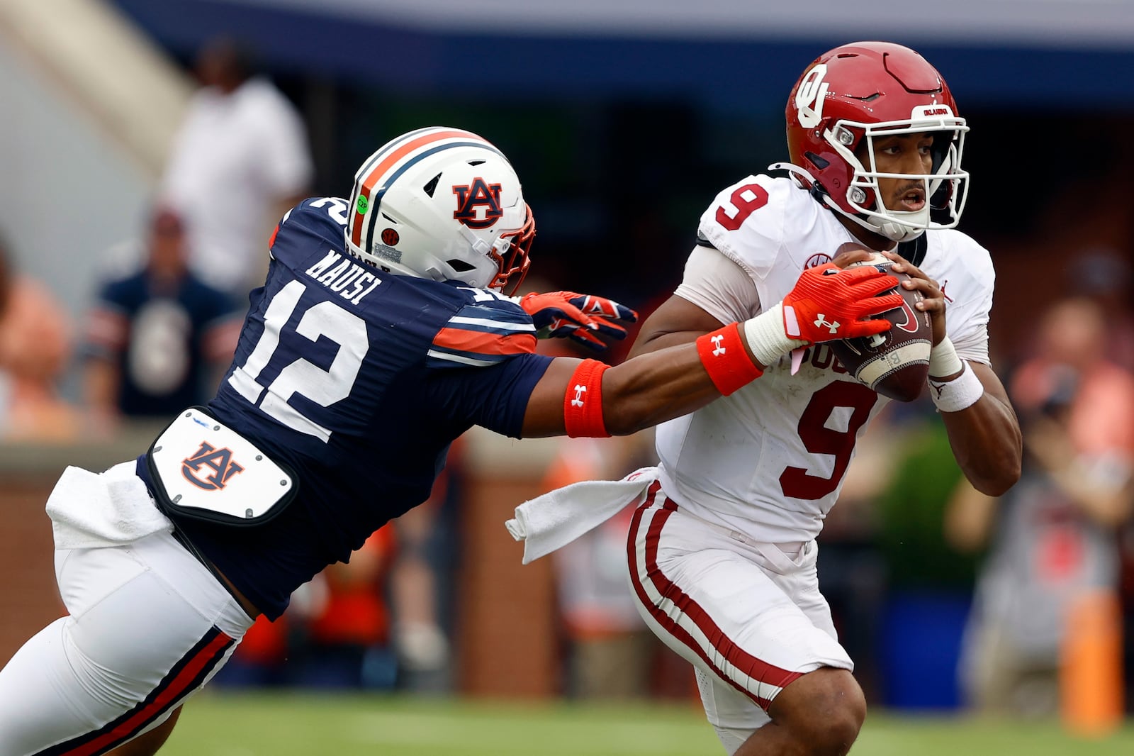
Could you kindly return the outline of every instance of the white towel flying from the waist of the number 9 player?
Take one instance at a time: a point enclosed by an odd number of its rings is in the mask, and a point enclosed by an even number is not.
[[[516,507],[505,522],[524,541],[524,564],[566,546],[638,499],[658,479],[658,468],[642,468],[621,480],[584,480],[556,488]]]

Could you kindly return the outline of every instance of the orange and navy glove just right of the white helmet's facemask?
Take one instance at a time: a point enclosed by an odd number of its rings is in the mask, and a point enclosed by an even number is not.
[[[532,316],[540,338],[570,338],[589,348],[601,351],[607,338],[626,338],[626,328],[619,324],[637,321],[637,312],[604,296],[549,292],[526,294],[519,306]]]

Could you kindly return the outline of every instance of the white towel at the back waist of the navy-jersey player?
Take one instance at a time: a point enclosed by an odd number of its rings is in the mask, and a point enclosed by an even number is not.
[[[46,505],[57,549],[121,546],[174,530],[135,473],[136,464],[130,460],[105,472],[64,470]]]

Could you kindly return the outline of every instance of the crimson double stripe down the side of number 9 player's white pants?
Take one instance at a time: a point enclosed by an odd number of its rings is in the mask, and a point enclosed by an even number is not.
[[[648,509],[653,506],[660,492],[661,484],[654,481],[646,492],[645,501],[641,506],[638,506],[637,511],[634,512],[634,516],[631,522],[631,537],[627,540],[627,558],[629,560],[631,581],[634,585],[634,593],[637,594],[638,600],[641,600],[642,605],[649,610],[650,615],[655,622],[658,622],[658,624],[660,624],[671,636],[685,644],[685,646],[687,646],[694,654],[700,656],[705,664],[717,672],[720,679],[728,681],[730,686],[754,700],[758,706],[767,709],[768,706],[771,705],[771,699],[758,696],[755,692],[733,680],[721,669],[720,664],[718,664],[713,658],[710,658],[709,653],[702,647],[697,639],[689,635],[685,628],[662,611],[661,607],[654,604],[653,599],[646,593],[645,586],[642,585],[642,576],[638,573],[637,568],[637,534],[642,527],[643,514]],[[666,521],[669,520],[670,515],[672,515],[676,511],[677,505],[667,499],[662,505],[661,511],[658,511],[650,521],[650,527],[646,531],[644,549],[645,573],[649,577],[650,582],[653,585],[654,590],[657,590],[663,598],[671,600],[674,606],[676,606],[682,614],[689,618],[701,630],[704,637],[709,639],[709,642],[712,644],[716,653],[737,670],[743,672],[746,677],[778,688],[782,688],[793,680],[803,677],[802,672],[782,670],[752,656],[737,646],[731,639],[728,638],[723,630],[717,627],[717,623],[713,622],[712,618],[709,616],[709,613],[705,612],[700,604],[693,600],[688,594],[682,590],[680,587],[674,583],[661,571],[661,568],[658,565],[658,543],[661,538],[662,527],[665,527]]]

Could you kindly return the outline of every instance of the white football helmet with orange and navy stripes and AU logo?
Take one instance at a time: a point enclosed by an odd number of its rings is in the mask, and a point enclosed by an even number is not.
[[[355,174],[347,249],[383,270],[515,291],[535,221],[488,140],[446,126],[386,143]]]

